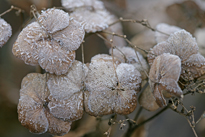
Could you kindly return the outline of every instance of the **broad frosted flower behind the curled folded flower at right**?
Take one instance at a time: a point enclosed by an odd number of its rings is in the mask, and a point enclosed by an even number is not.
[[[183,73],[183,75],[181,75],[182,79],[192,80],[205,73],[205,59],[198,53],[198,49],[195,38],[185,30],[180,30],[171,34],[167,41],[158,43],[148,54],[148,62],[152,65],[156,55],[158,56],[163,53],[177,55],[181,59],[181,72]],[[188,68],[189,66],[192,68]],[[190,73],[187,74],[187,71]]]

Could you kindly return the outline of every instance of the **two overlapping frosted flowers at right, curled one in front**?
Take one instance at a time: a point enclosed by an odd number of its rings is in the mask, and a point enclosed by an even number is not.
[[[167,25],[164,25],[164,29],[172,34],[168,39],[157,35],[157,40],[162,42],[148,54],[151,66],[149,84],[160,107],[166,105],[164,97],[183,97],[178,85],[179,78],[189,81],[205,73],[205,58],[198,52],[197,43],[191,34],[185,30],[174,32],[179,28]]]

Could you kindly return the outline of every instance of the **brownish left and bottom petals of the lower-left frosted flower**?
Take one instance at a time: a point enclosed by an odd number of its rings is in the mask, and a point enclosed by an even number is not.
[[[71,122],[64,122],[50,114],[49,94],[45,74],[28,74],[21,84],[18,104],[19,121],[33,133],[47,132],[63,135],[70,130]]]

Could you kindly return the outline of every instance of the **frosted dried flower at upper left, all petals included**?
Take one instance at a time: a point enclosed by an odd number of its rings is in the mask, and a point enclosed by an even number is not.
[[[84,39],[83,26],[59,9],[48,9],[19,34],[12,52],[28,65],[49,73],[65,74]]]

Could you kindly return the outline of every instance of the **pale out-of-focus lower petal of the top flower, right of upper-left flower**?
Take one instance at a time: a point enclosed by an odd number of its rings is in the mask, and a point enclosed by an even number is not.
[[[111,14],[106,10],[90,11],[85,9],[75,10],[70,14],[78,22],[84,25],[84,29],[87,33],[102,31],[108,28],[106,18]]]

